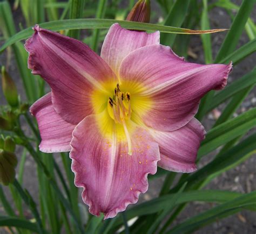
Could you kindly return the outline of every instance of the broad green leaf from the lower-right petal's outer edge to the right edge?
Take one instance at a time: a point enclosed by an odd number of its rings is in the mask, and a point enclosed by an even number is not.
[[[198,151],[198,159],[215,148],[244,134],[256,125],[256,108],[211,129]]]

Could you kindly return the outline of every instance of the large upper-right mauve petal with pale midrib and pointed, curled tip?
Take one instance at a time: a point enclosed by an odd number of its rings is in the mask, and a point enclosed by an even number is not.
[[[200,98],[208,91],[226,86],[230,65],[199,65],[185,62],[170,47],[151,45],[133,51],[123,60],[119,77],[126,86],[139,84],[134,94],[148,98],[135,108],[147,126],[173,131],[187,124],[198,110]]]

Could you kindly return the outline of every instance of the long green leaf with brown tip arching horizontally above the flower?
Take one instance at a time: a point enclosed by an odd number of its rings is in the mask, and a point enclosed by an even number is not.
[[[57,20],[52,22],[46,22],[40,24],[41,27],[45,29],[49,29],[52,31],[60,31],[60,30],[72,30],[72,29],[109,29],[109,27],[114,24],[119,23],[120,26],[125,29],[132,30],[149,30],[149,31],[157,31],[166,32],[166,33],[180,33],[180,34],[201,34],[201,33],[214,33],[225,31],[225,29],[213,29],[213,30],[190,30],[190,29],[182,29],[180,27],[170,27],[158,24],[147,24],[147,23],[139,23],[139,22],[130,22],[125,20],[114,20],[114,19],[64,19]],[[4,51],[4,49],[17,41],[26,39],[32,35],[33,31],[28,28],[24,29],[13,37],[9,38],[5,44],[0,48],[0,53]]]

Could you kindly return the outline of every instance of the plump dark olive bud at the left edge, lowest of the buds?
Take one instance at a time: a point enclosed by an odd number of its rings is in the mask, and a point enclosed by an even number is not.
[[[12,152],[0,150],[0,182],[9,185],[15,179],[16,155]]]

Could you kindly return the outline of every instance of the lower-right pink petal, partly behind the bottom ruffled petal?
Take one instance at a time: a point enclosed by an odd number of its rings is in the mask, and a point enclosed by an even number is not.
[[[173,172],[190,173],[197,169],[197,152],[205,137],[204,126],[192,118],[185,126],[171,132],[151,129],[153,138],[159,144],[158,166]]]

